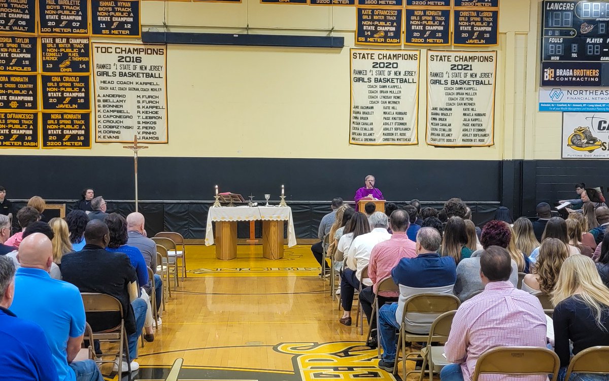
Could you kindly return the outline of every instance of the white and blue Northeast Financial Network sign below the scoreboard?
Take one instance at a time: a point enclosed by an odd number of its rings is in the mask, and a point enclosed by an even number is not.
[[[539,89],[539,111],[606,112],[609,89],[554,87]]]

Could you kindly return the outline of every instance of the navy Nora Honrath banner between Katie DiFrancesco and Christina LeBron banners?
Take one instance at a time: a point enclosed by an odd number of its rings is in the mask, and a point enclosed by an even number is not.
[[[404,44],[449,45],[451,43],[450,9],[406,8]]]

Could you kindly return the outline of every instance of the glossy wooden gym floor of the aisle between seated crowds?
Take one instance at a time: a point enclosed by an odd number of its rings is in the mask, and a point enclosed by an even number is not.
[[[165,380],[179,358],[179,380],[394,380],[376,368],[366,331],[338,322],[310,246],[286,247],[281,260],[261,248],[239,246],[230,261],[215,246],[186,248],[188,278],[167,299],[155,341],[139,348],[135,380]]]

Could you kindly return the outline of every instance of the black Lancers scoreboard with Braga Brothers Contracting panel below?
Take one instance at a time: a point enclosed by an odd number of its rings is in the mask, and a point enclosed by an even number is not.
[[[541,86],[609,86],[609,1],[544,0]]]

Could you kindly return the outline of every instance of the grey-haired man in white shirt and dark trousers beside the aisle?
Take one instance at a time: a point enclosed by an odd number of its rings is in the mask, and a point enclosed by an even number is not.
[[[367,234],[353,239],[351,248],[347,254],[347,268],[342,269],[340,274],[340,300],[343,306],[343,315],[340,318],[340,323],[345,326],[351,325],[351,306],[353,306],[353,294],[356,289],[359,290],[359,279],[362,276],[362,270],[368,265],[372,248],[379,243],[391,238],[391,234],[387,232],[387,215],[381,212],[374,212],[369,218],[370,228],[372,229]],[[362,279],[364,286],[371,286],[370,278]]]

